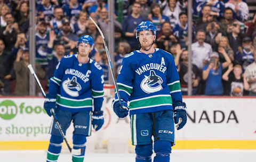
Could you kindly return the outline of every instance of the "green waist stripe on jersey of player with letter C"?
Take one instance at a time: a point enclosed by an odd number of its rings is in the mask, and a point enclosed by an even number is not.
[[[57,95],[56,102],[68,107],[86,107],[86,106],[92,106],[92,99],[85,99],[85,100],[69,100],[67,98],[61,98],[59,95]]]

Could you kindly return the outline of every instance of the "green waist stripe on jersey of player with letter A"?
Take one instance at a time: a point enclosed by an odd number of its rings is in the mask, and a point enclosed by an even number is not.
[[[148,98],[142,98],[130,101],[130,109],[142,109],[147,107],[156,107],[161,105],[172,105],[171,95],[155,95]]]

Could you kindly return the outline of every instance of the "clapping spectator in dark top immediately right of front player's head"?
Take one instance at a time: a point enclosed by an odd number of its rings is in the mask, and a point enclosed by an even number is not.
[[[171,23],[165,21],[162,26],[162,30],[157,35],[156,44],[157,47],[162,48],[165,51],[169,51],[172,44],[177,43],[178,40],[172,33]]]

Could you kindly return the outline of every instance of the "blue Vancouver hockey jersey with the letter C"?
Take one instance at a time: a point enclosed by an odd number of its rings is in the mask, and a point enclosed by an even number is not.
[[[79,63],[77,54],[63,56],[50,79],[49,93],[56,96],[57,107],[65,111],[100,111],[103,102],[103,70],[90,59]],[[88,69],[90,68],[90,69]]]

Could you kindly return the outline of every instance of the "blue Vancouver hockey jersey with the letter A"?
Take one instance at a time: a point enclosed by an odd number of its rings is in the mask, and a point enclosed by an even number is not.
[[[125,56],[117,87],[121,99],[129,101],[130,114],[172,110],[172,103],[182,102],[173,56],[158,48],[152,54],[134,51]]]

